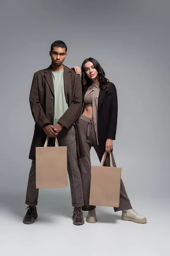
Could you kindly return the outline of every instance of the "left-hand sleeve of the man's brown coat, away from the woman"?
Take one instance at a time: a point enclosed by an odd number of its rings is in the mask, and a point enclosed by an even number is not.
[[[50,125],[49,120],[45,116],[45,113],[42,109],[39,100],[39,93],[38,93],[38,79],[36,73],[34,73],[34,77],[32,80],[31,91],[29,95],[29,102],[31,107],[31,113],[34,118],[36,125],[41,130],[44,125]]]

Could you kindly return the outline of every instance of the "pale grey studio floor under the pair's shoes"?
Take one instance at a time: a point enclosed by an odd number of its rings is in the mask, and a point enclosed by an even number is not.
[[[131,198],[133,208],[147,217],[147,224],[121,220],[121,212],[97,207],[97,223],[72,224],[68,189],[40,191],[38,219],[23,224],[25,191],[0,194],[1,255],[170,255],[170,206],[167,201]],[[84,212],[86,217],[86,212]]]

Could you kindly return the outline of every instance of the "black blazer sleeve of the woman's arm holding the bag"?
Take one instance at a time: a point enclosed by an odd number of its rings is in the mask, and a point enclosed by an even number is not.
[[[118,111],[117,92],[116,92],[116,87],[113,84],[112,105],[111,105],[111,111],[109,116],[109,125],[108,125],[108,133],[107,133],[107,138],[112,140],[115,140],[116,138],[117,111]]]

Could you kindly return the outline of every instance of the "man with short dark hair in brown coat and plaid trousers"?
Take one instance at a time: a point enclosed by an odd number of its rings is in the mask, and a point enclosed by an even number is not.
[[[57,137],[59,146],[67,146],[68,175],[71,186],[73,223],[84,224],[81,207],[84,205],[82,181],[78,166],[78,157],[83,157],[79,149],[79,136],[76,121],[82,108],[82,86],[80,76],[63,65],[67,55],[67,46],[63,41],[51,45],[51,65],[47,69],[34,73],[30,106],[35,121],[34,137],[29,158],[32,160],[28,178],[26,204],[28,210],[23,223],[32,224],[37,218],[38,192],[36,189],[35,148],[43,147],[46,137],[48,146],[53,146]]]

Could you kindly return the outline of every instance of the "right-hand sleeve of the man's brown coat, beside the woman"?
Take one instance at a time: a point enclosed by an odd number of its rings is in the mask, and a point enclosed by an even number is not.
[[[73,102],[58,121],[58,123],[63,125],[67,130],[69,130],[77,121],[82,109],[82,84],[80,76],[77,75],[75,83],[76,86],[74,90]]]

